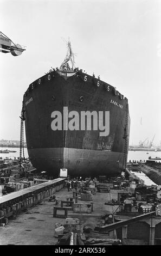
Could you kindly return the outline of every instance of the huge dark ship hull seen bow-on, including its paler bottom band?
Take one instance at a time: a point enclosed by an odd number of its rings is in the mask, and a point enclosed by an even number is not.
[[[128,101],[109,84],[77,71],[53,71],[30,84],[24,94],[25,134],[31,163],[38,170],[57,176],[60,168],[69,175],[107,176],[125,169],[130,133]],[[107,111],[110,133],[68,129],[76,111]],[[62,130],[52,130],[53,111],[62,113]],[[78,119],[77,119],[78,120]]]

